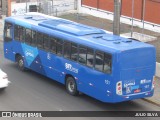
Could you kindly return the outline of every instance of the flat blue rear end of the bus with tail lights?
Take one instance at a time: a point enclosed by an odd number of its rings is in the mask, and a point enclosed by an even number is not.
[[[115,83],[115,102],[153,96],[155,48],[150,46],[122,51],[118,61],[120,79]]]

